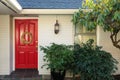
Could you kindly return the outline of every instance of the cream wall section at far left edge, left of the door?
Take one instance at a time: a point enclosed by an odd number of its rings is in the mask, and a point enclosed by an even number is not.
[[[0,15],[0,75],[10,73],[10,17]]]

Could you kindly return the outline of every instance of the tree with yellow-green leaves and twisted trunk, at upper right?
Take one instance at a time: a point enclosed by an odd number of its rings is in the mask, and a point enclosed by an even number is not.
[[[83,7],[73,15],[73,23],[92,31],[97,26],[111,32],[111,40],[120,49],[120,0],[85,0]]]

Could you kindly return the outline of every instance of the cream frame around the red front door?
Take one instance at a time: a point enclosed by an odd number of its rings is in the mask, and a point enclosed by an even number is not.
[[[37,19],[38,27],[39,27],[39,18],[38,17],[14,17],[13,18],[13,71],[15,71],[15,19]],[[39,55],[38,55],[38,60],[39,60]],[[39,68],[39,61],[38,61],[38,68]],[[37,70],[38,70],[38,68],[37,68]]]

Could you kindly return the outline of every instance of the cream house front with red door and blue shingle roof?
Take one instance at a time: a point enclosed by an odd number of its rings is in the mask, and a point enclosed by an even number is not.
[[[39,46],[75,43],[76,30],[71,20],[81,3],[81,0],[0,0],[0,75],[24,68],[50,74],[41,68],[45,62]],[[58,34],[54,32],[56,20]],[[120,62],[120,50],[113,47],[109,35],[98,27],[96,44]],[[120,74],[120,64],[116,74]]]

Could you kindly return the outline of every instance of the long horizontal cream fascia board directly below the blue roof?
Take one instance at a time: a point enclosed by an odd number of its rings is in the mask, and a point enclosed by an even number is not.
[[[78,9],[23,9],[20,14],[74,14]]]

